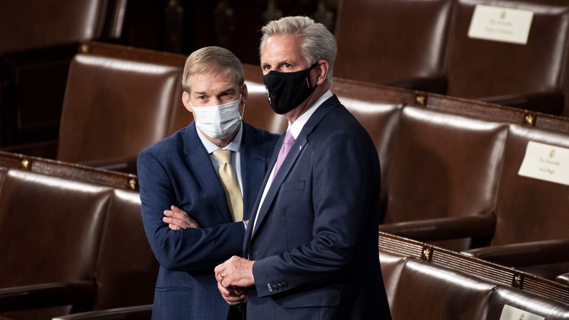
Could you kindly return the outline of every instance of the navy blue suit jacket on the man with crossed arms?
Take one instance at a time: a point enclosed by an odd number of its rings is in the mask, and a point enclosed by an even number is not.
[[[278,135],[242,125],[243,206],[250,212]],[[146,236],[160,262],[152,319],[225,320],[229,305],[217,289],[213,269],[241,255],[245,227],[232,220],[195,122],[142,150],[137,166]],[[172,205],[188,212],[200,228],[168,228],[163,212]]]

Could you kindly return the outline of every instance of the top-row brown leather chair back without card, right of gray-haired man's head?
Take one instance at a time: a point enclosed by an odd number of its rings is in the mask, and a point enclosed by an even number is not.
[[[452,0],[341,2],[334,75],[428,92],[446,92]]]

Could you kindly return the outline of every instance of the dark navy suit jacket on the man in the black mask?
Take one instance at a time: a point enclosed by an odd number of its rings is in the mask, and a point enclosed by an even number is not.
[[[379,194],[376,147],[333,95],[304,125],[248,228],[244,255],[255,260],[248,320],[390,319],[378,258]]]

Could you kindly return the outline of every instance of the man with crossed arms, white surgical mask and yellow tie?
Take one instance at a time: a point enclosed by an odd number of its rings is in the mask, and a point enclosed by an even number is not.
[[[138,155],[142,218],[160,262],[152,319],[243,319],[244,290],[225,288],[226,303],[213,269],[242,251],[278,136],[242,121],[247,86],[230,51],[193,52],[182,85],[195,121]]]

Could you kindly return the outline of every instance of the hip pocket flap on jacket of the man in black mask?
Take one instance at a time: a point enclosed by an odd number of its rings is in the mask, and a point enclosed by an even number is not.
[[[282,297],[277,302],[284,309],[301,307],[333,307],[340,304],[340,288],[325,286]]]

